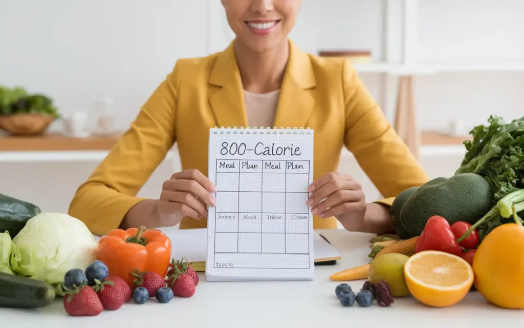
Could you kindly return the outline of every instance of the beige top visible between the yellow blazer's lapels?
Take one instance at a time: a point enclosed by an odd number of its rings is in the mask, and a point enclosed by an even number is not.
[[[273,127],[280,90],[252,93],[244,90],[247,122],[249,126]]]

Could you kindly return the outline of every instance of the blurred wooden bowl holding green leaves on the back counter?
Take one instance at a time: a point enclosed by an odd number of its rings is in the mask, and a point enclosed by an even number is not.
[[[12,135],[38,135],[53,121],[53,116],[37,113],[0,115],[0,128]]]

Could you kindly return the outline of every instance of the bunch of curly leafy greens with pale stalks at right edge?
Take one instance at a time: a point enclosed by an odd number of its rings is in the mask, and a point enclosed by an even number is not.
[[[479,222],[477,230],[481,239],[497,226],[512,222],[507,210],[500,211],[500,206],[521,202],[521,197],[516,196],[524,192],[521,190],[524,188],[524,117],[507,123],[491,115],[488,123],[475,126],[470,132],[473,140],[464,142],[466,154],[455,172],[481,175],[493,188],[494,203],[499,206],[494,205]]]

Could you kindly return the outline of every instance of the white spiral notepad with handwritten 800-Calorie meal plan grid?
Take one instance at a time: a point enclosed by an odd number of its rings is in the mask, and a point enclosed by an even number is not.
[[[208,280],[312,280],[313,130],[214,128]]]

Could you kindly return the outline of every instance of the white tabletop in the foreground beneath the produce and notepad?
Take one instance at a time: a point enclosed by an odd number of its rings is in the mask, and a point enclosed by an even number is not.
[[[296,282],[206,282],[200,283],[193,297],[173,298],[160,304],[152,298],[138,305],[130,300],[116,311],[98,316],[71,317],[62,299],[38,310],[0,309],[2,327],[442,327],[471,324],[473,327],[523,327],[524,312],[506,310],[487,303],[478,292],[470,292],[459,304],[449,308],[429,308],[412,297],[397,298],[389,308],[376,302],[369,308],[356,303],[344,307],[335,297],[339,282],[330,274],[367,262],[372,235],[345,230],[318,230],[343,257],[335,266],[315,267],[314,281]],[[348,282],[354,290],[363,280]],[[380,326],[379,326],[380,325]]]

